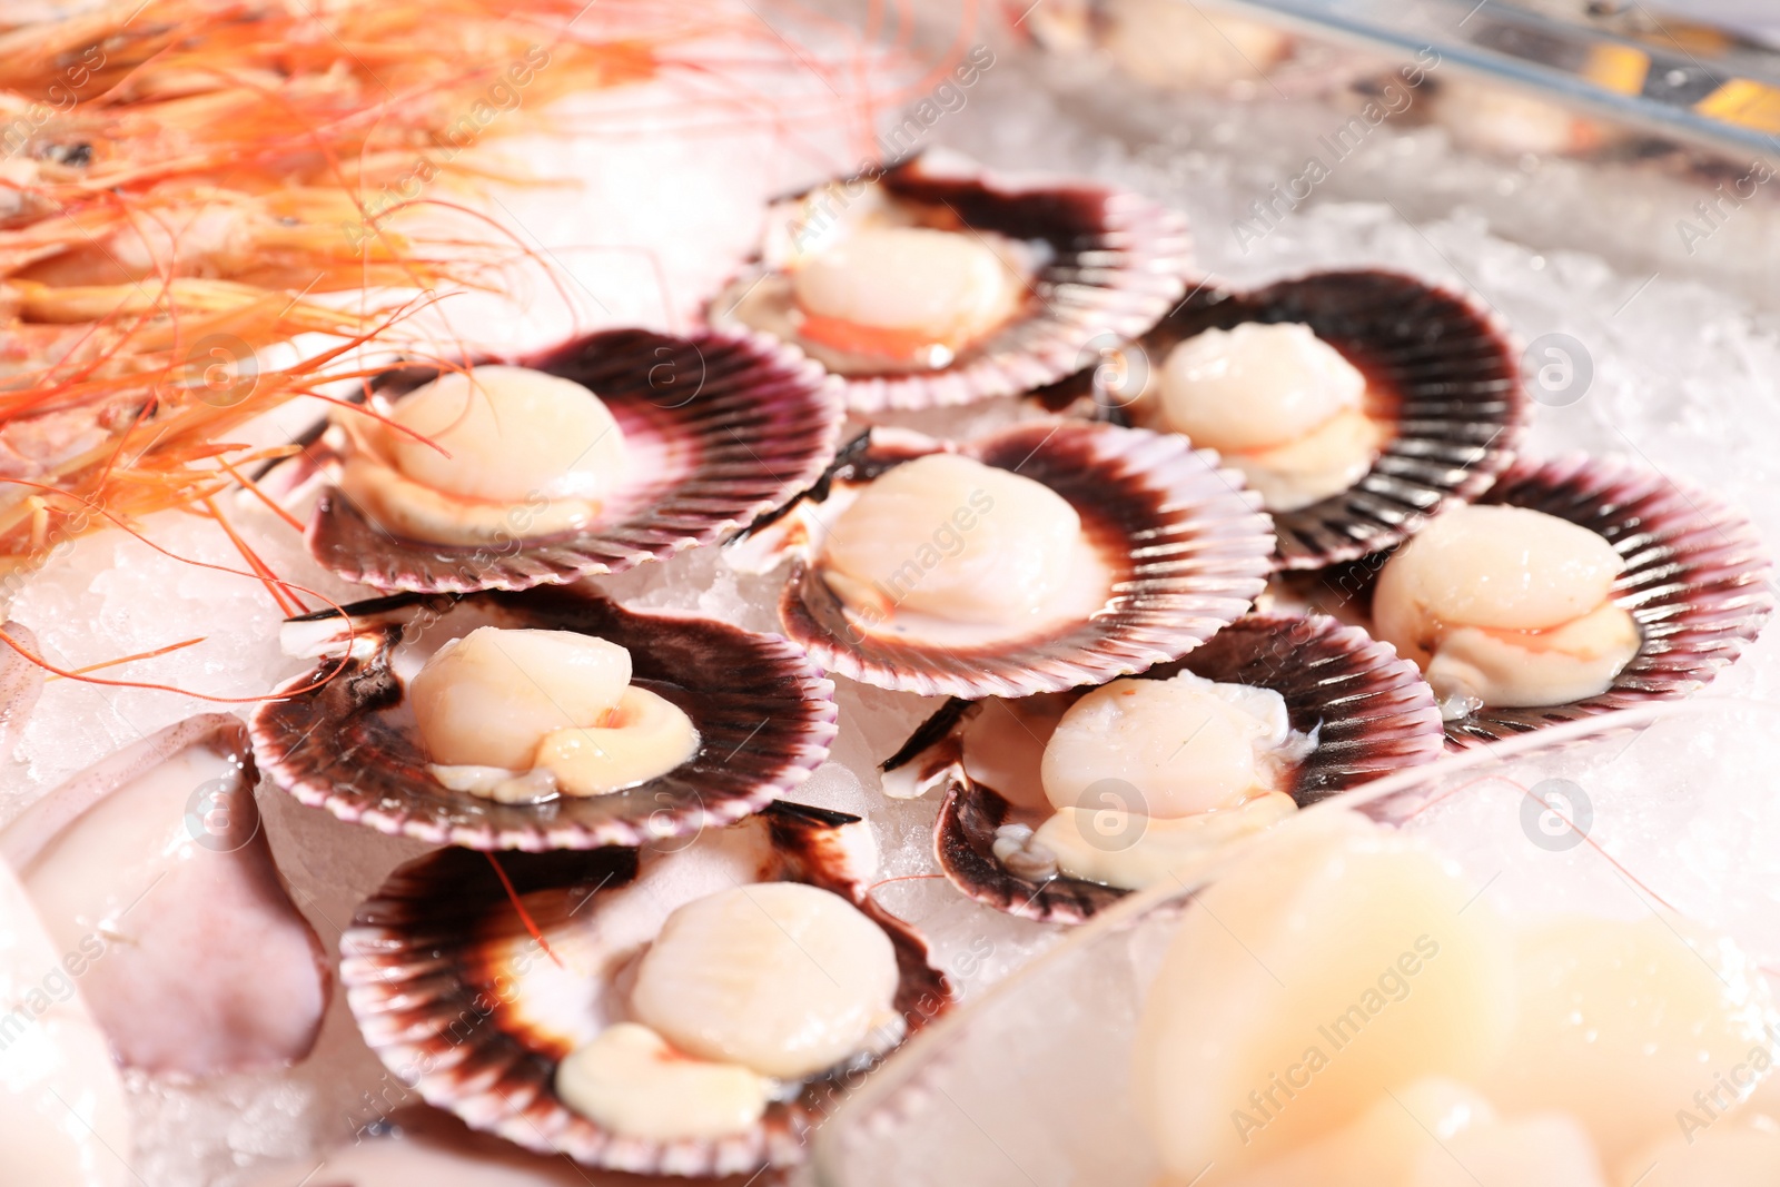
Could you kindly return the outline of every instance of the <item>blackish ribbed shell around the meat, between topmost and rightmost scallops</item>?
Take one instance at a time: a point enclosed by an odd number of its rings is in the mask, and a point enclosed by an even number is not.
[[[1282,569],[1392,548],[1445,504],[1486,491],[1513,461],[1531,404],[1508,331],[1476,301],[1378,271],[1314,272],[1248,294],[1198,288],[1136,342],[1143,374],[1159,374],[1177,343],[1241,322],[1310,326],[1365,374],[1376,413],[1397,431],[1353,488],[1273,514]],[[1114,390],[1121,384],[1130,390]],[[1054,411],[1073,406],[1120,420],[1137,393],[1127,358],[1123,368],[1079,372],[1038,399]]]

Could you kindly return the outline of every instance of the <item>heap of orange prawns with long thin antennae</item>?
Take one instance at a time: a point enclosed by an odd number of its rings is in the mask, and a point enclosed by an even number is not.
[[[714,78],[700,53],[719,32],[787,44],[696,0],[117,0],[0,27],[0,107],[36,103],[0,128],[18,139],[0,162],[0,479],[46,488],[0,482],[0,564],[91,527],[87,505],[135,520],[235,482],[253,457],[219,434],[368,377],[361,347],[393,352],[408,311],[374,294],[497,288],[536,254],[417,240],[411,214],[468,214],[417,178],[513,182],[457,149],[548,125],[532,114],[570,89]],[[340,345],[262,363],[317,333]]]

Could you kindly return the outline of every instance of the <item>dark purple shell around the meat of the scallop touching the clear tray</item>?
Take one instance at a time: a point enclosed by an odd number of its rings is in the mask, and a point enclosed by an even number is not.
[[[1299,733],[1314,730],[1317,739],[1285,788],[1303,808],[1390,771],[1433,762],[1444,753],[1440,708],[1415,666],[1397,658],[1390,646],[1331,618],[1253,614],[1218,632],[1180,662],[1152,667],[1145,678],[1166,680],[1180,671],[1221,683],[1273,689],[1285,698],[1292,728]],[[1073,703],[1084,692],[1077,689],[1059,701]],[[1057,715],[1063,708],[1063,703],[1056,707]],[[967,772],[963,724],[975,712],[981,712],[979,705],[947,703],[885,762],[886,772],[899,772],[894,778],[904,790],[918,794],[943,787],[933,844],[947,879],[997,911],[1050,924],[1079,924],[1125,897],[1125,890],[1070,876],[1048,881],[1020,877],[995,858],[995,829],[1016,822],[1036,826],[1043,813],[1022,810]],[[1045,740],[1031,735],[1034,749],[1041,749]],[[1027,739],[1016,742],[1024,746]],[[1000,760],[1007,762],[1007,756]],[[1020,799],[1043,801],[1043,792],[1025,788]]]

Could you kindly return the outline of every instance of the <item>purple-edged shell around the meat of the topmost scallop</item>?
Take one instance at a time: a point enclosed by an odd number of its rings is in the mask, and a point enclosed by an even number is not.
[[[853,370],[858,413],[968,404],[1018,395],[1079,370],[1098,343],[1141,335],[1180,299],[1191,262],[1185,219],[1125,190],[1056,178],[993,176],[952,153],[922,153],[888,169],[829,182],[769,212],[760,258],[710,304],[712,326],[780,326],[796,238],[840,233],[869,210],[943,230],[1002,235],[1038,256],[1025,310],[940,370]],[[792,235],[797,230],[799,235]],[[771,310],[769,310],[771,306]],[[756,315],[760,308],[765,313]],[[751,320],[744,320],[751,319]],[[817,358],[821,347],[801,343]]]

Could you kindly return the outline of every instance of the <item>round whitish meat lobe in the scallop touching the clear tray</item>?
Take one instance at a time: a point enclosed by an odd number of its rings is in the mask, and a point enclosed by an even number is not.
[[[1271,689],[1193,673],[1114,680],[1063,714],[1040,776],[1056,808],[1185,817],[1280,790],[1290,740]]]

